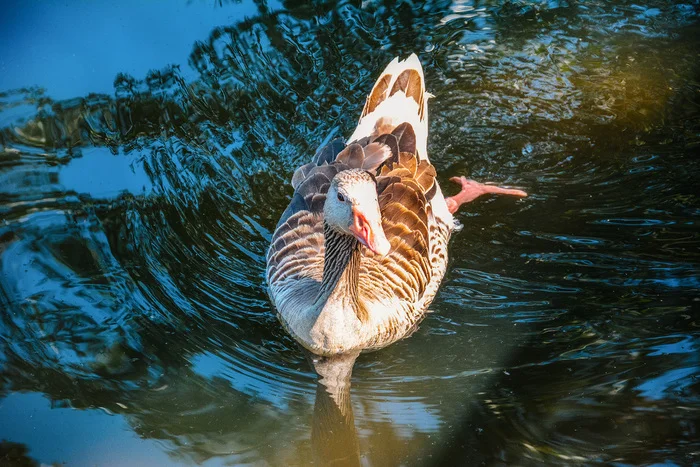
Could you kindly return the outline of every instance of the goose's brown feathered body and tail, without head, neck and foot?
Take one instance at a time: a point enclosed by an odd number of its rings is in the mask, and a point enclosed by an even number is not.
[[[292,176],[294,194],[273,234],[266,276],[280,321],[312,352],[330,355],[395,342],[416,328],[437,292],[454,224],[427,157],[428,97],[417,57],[392,61],[368,96],[350,144],[331,141]],[[342,326],[318,331],[334,320],[321,319],[316,301],[326,194],[333,177],[357,168],[376,179],[391,250],[380,257],[360,247],[358,300],[367,313],[350,311]],[[345,335],[333,335],[340,328]]]

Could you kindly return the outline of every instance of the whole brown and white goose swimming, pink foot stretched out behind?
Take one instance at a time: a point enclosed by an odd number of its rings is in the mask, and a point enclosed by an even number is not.
[[[266,279],[283,327],[313,354],[376,350],[411,334],[445,275],[453,214],[487,193],[527,196],[465,177],[443,196],[427,153],[430,97],[418,57],[396,57],[347,143],[331,141],[292,176]]]

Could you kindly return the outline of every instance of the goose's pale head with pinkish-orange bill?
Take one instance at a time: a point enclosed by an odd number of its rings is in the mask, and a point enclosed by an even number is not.
[[[377,182],[369,172],[338,172],[328,189],[323,214],[326,224],[336,232],[355,237],[377,255],[389,253],[391,245],[382,228]]]

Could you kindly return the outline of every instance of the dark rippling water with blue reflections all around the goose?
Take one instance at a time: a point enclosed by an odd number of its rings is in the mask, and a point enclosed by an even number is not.
[[[697,0],[42,5],[0,14],[1,464],[700,463]],[[349,400],[264,253],[413,51],[444,190],[531,196],[459,214]]]

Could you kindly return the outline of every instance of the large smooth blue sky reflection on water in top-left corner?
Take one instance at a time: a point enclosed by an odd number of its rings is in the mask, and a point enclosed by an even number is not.
[[[277,9],[274,2],[268,8]],[[145,76],[180,66],[185,79],[192,44],[212,29],[254,16],[253,1],[82,2],[47,0],[40,5],[9,1],[0,28],[0,89],[39,86],[53,99],[113,94],[119,73]]]

